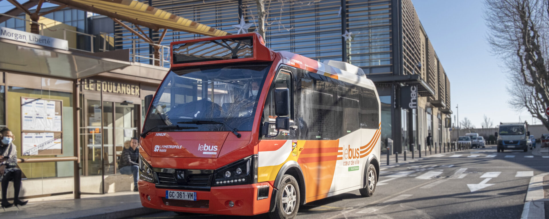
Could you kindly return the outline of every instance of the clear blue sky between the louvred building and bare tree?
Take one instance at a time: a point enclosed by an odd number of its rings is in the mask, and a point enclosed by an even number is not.
[[[510,98],[506,90],[508,74],[499,66],[497,57],[490,54],[483,1],[412,2],[450,78],[453,116],[457,115],[456,105],[459,105],[460,120],[467,117],[478,128],[484,114],[494,120],[494,124],[516,122],[519,117],[531,123],[527,112],[513,111],[507,103]],[[0,13],[11,9],[10,5],[8,1],[0,1]],[[44,7],[51,6],[53,4],[44,4]]]

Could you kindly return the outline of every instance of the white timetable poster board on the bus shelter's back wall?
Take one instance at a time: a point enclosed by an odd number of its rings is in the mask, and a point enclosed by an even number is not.
[[[21,155],[63,154],[63,101],[21,97]]]

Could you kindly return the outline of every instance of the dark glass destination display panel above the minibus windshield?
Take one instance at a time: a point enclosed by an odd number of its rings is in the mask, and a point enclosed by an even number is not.
[[[252,37],[173,45],[173,64],[254,57]]]

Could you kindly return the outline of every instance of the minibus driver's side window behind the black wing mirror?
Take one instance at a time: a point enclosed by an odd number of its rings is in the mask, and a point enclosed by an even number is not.
[[[292,73],[285,70],[280,70],[271,84],[269,93],[267,94],[267,99],[265,100],[265,107],[263,109],[262,123],[264,122],[275,122],[275,89],[276,88],[288,88],[290,90],[290,99],[294,96],[294,91],[292,89]],[[290,100],[290,106],[293,105],[293,101]],[[293,123],[293,110],[290,113],[290,126],[294,125]],[[269,129],[269,132],[274,135],[276,133],[275,129]],[[261,139],[270,139],[270,140],[289,140],[296,139],[296,130],[290,129],[288,131],[281,130],[278,136],[276,137],[265,137],[261,136]]]

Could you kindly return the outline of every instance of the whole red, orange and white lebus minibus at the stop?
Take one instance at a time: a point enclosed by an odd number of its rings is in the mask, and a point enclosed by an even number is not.
[[[356,66],[275,52],[256,33],[171,43],[141,134],[143,206],[293,218],[379,177],[380,104]]]

